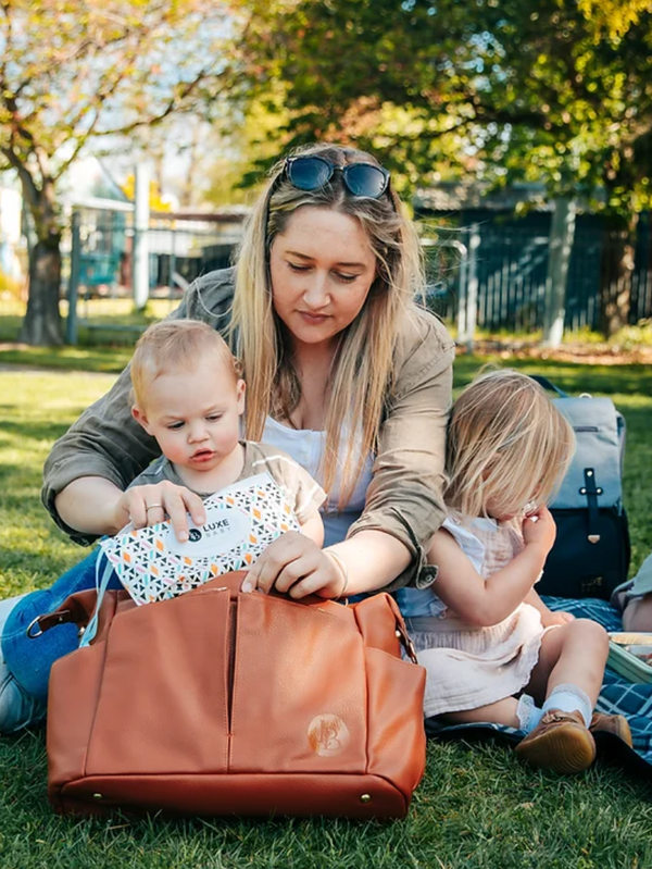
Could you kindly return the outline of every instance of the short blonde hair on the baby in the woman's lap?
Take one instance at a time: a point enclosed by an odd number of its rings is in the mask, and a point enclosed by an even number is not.
[[[147,389],[161,374],[192,369],[203,353],[213,353],[233,375],[240,377],[239,364],[226,342],[200,320],[164,320],[143,332],[131,359],[133,399],[138,407],[147,401]]]

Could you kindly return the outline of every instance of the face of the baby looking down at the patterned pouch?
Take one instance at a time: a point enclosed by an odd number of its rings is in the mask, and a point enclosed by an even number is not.
[[[243,410],[244,382],[209,356],[191,369],[160,374],[133,413],[171,462],[211,471],[237,447]]]

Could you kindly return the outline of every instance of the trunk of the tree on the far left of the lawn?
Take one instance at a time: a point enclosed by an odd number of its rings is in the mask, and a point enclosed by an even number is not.
[[[63,344],[61,293],[61,227],[53,207],[54,190],[46,187],[29,203],[37,241],[29,256],[29,296],[20,340],[38,347]]]

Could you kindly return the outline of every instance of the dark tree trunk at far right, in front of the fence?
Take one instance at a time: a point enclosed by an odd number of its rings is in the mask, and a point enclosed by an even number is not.
[[[638,214],[607,224],[600,269],[600,331],[609,338],[629,322]]]

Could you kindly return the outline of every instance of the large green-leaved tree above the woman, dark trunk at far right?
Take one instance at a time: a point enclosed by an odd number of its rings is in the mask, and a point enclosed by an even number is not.
[[[651,0],[248,5],[260,86],[286,87],[286,145],[355,139],[408,189],[435,169],[581,195],[612,239],[603,328],[626,322],[636,215],[652,195]]]

